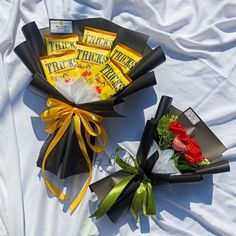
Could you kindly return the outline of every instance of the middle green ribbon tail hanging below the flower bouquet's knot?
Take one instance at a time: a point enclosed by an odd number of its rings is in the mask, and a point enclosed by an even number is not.
[[[141,183],[134,194],[134,198],[130,207],[130,211],[135,221],[137,221],[138,219],[138,211],[142,207],[145,194],[146,194],[146,186],[144,183]]]

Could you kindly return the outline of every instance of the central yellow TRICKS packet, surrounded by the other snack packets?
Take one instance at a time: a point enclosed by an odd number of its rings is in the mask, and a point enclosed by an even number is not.
[[[87,83],[94,83],[94,75],[108,60],[110,50],[101,47],[77,43],[77,63],[80,68],[80,77]]]

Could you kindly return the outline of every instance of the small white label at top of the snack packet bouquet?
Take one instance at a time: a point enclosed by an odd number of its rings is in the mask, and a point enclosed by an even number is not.
[[[50,20],[51,33],[71,34],[73,33],[72,21],[69,20]]]

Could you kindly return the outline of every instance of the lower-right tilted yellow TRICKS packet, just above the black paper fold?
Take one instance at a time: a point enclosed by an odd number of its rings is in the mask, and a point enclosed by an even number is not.
[[[102,66],[95,80],[97,93],[102,100],[113,96],[132,82],[111,60]]]

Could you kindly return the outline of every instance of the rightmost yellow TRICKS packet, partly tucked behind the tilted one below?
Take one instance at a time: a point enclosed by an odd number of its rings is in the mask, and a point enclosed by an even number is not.
[[[143,55],[123,44],[117,44],[110,57],[127,74],[143,58]]]

